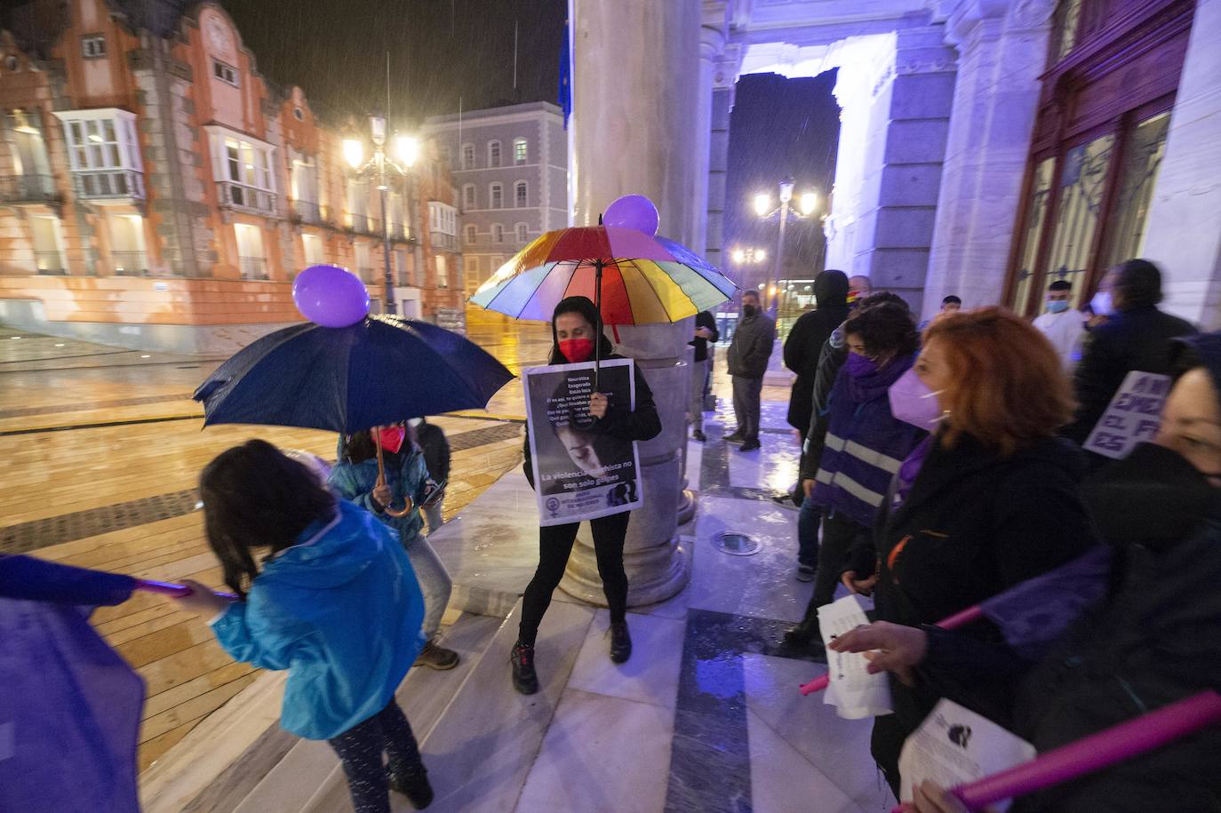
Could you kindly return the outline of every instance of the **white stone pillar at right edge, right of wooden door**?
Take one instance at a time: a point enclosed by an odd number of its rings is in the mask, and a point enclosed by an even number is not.
[[[1142,254],[1166,273],[1166,310],[1221,328],[1221,0],[1198,0]]]

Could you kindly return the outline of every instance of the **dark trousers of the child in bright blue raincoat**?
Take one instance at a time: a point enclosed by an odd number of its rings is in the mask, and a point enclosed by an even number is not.
[[[411,726],[393,699],[364,723],[332,737],[330,743],[343,762],[355,813],[389,813],[388,776],[424,770]],[[389,754],[388,775],[382,765],[382,752]]]

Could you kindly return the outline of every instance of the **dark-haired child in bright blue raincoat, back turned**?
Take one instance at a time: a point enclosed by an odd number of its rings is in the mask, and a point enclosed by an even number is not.
[[[237,660],[288,670],[281,725],[331,743],[357,813],[389,812],[387,780],[427,807],[427,771],[394,701],[424,647],[424,601],[398,540],[265,441],[212,460],[199,491],[208,541],[242,601],[198,582],[178,601],[212,616]],[[255,548],[269,549],[258,564]]]

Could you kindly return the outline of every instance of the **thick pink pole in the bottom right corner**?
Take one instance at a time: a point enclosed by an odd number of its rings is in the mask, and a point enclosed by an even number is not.
[[[978,811],[993,802],[1033,793],[1110,768],[1219,723],[1221,695],[1200,692],[1070,742],[1009,770],[960,785],[950,792],[968,811]],[[893,813],[901,813],[904,809],[910,808],[897,806]]]

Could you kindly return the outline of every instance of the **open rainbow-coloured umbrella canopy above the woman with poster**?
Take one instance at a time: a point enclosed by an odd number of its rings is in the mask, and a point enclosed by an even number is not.
[[[598,302],[606,325],[676,322],[734,295],[736,286],[694,251],[634,228],[547,232],[501,266],[470,298],[513,319],[549,321],[565,297]]]

